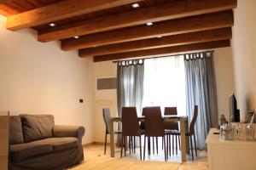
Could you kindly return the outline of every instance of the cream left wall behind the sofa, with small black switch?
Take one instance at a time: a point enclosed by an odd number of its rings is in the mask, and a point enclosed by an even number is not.
[[[53,114],[55,124],[82,125],[84,143],[94,141],[92,59],[38,42],[31,30],[8,31],[5,21],[0,15],[0,111]]]

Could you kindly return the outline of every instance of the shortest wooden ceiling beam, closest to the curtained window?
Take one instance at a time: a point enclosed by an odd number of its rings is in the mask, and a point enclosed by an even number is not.
[[[212,49],[212,48],[224,48],[230,47],[230,40],[221,40],[215,42],[202,42],[194,43],[189,45],[173,46],[167,48],[154,48],[154,49],[145,49],[140,51],[133,51],[120,54],[108,54],[108,55],[99,55],[93,58],[94,62],[114,60],[114,59],[129,59],[145,56],[162,56],[167,54],[174,54],[187,51],[203,50],[203,49]]]

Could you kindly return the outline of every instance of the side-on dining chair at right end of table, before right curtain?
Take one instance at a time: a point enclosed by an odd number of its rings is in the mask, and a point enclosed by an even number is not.
[[[189,144],[190,144],[190,149],[191,149],[191,156],[192,160],[194,161],[194,153],[193,153],[193,142],[192,142],[192,136],[194,137],[194,144],[195,144],[195,156],[197,156],[197,147],[196,147],[196,141],[195,141],[195,122],[197,120],[198,116],[198,105],[194,106],[194,113],[192,120],[189,124],[189,132],[186,132],[186,136],[189,137]],[[172,135],[180,135],[179,131],[173,131],[171,132]]]

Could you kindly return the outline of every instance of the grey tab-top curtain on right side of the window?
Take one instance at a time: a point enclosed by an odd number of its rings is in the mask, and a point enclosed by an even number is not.
[[[193,116],[194,105],[198,105],[198,118],[195,124],[197,146],[206,150],[205,140],[211,127],[218,122],[217,92],[212,52],[187,54],[184,56],[186,77],[186,103],[189,121]]]

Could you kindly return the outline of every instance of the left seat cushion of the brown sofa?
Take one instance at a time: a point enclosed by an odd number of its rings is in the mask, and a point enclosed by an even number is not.
[[[40,143],[12,144],[9,150],[11,161],[21,161],[31,156],[52,152],[52,145]]]

